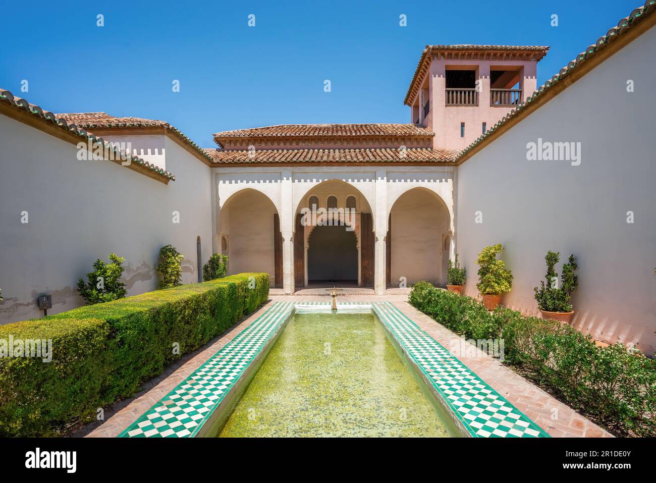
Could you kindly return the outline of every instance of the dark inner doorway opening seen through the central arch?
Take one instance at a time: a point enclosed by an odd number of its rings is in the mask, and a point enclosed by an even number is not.
[[[308,240],[308,282],[358,284],[358,241],[346,226],[316,226]]]

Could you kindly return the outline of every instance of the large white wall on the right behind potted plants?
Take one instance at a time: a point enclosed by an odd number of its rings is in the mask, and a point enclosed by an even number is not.
[[[537,312],[533,287],[544,278],[546,251],[560,251],[561,261],[573,253],[573,325],[653,353],[655,45],[652,28],[458,168],[456,243],[468,270],[467,295],[477,293],[478,251],[502,243],[514,274],[504,304]],[[634,93],[626,92],[627,79]],[[538,138],[581,142],[581,164],[527,161],[526,145]]]

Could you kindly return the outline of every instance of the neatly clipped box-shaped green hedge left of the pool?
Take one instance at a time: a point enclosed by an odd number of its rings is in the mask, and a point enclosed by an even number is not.
[[[0,339],[52,339],[51,362],[0,358],[0,436],[55,436],[95,418],[268,294],[268,274],[239,274],[0,326]]]

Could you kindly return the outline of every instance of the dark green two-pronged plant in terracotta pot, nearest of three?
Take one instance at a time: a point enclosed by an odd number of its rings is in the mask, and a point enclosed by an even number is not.
[[[577,276],[574,274],[577,269],[576,259],[574,255],[569,255],[567,263],[563,264],[560,287],[558,287],[558,274],[554,268],[560,261],[560,253],[548,251],[544,260],[546,260],[546,276],[544,276],[546,284],[540,282],[541,287],[533,289],[537,306],[542,312],[542,318],[569,324],[574,315],[569,299],[578,283]]]

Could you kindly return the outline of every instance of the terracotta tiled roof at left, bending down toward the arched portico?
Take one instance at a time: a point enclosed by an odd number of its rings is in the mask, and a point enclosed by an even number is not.
[[[116,117],[110,116],[105,112],[68,112],[62,114],[55,114],[57,117],[66,119],[68,123],[75,123],[79,127],[85,129],[132,129],[132,128],[148,128],[148,127],[163,127],[173,133],[176,137],[180,138],[195,152],[203,156],[203,158],[211,161],[205,154],[203,148],[198,146],[190,138],[186,137],[179,129],[172,126],[165,121],[157,121],[155,119],[144,119],[143,117]]]

